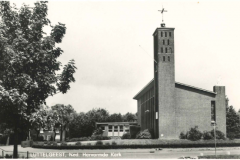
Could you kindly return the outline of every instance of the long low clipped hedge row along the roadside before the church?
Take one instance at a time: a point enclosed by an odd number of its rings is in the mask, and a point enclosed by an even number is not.
[[[217,143],[217,147],[239,147],[240,143]],[[129,144],[129,145],[69,145],[69,146],[43,146],[33,145],[33,148],[44,149],[123,149],[123,148],[197,148],[215,147],[214,143],[188,143],[188,144]]]

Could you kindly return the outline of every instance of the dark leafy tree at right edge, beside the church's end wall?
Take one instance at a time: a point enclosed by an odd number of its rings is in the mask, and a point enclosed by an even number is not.
[[[240,132],[240,124],[239,124],[239,115],[236,113],[233,106],[227,107],[227,115],[226,115],[226,123],[227,123],[227,137],[229,135],[237,136]]]

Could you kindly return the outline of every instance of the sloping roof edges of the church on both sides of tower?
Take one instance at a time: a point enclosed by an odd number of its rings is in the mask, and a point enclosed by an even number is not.
[[[179,82],[175,82],[175,85],[179,85],[179,86],[183,86],[183,87],[187,87],[187,88],[192,88],[194,90],[199,90],[201,92],[206,92],[208,94],[217,94],[213,91],[209,91],[209,90],[205,90],[202,88],[198,88],[198,87],[194,87],[194,86],[190,86],[187,84],[183,84],[183,83],[179,83]],[[154,79],[152,79],[145,87],[143,87],[143,89],[141,89],[134,97],[133,99],[139,99],[142,95],[144,95],[144,93],[146,93],[150,88],[154,87]]]

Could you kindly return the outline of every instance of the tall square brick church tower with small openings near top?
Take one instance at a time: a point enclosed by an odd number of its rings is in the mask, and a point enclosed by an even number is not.
[[[174,28],[162,23],[153,33],[156,138],[176,138]]]

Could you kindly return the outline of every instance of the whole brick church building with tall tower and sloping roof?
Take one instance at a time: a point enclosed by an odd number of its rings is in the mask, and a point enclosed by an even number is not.
[[[215,121],[226,135],[225,87],[208,91],[175,81],[174,29],[161,24],[153,33],[154,79],[133,98],[138,124],[153,129],[154,138],[176,139],[195,126],[210,131]]]

